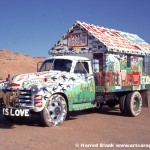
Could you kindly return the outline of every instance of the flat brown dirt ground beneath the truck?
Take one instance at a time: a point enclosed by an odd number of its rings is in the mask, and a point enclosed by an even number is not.
[[[118,106],[71,112],[60,127],[43,127],[37,115],[11,124],[0,110],[0,150],[150,149],[150,108],[143,108],[138,117],[121,116]],[[149,144],[149,148],[116,144]]]

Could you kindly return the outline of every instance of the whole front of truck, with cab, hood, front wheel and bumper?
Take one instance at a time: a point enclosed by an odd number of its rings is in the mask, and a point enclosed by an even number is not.
[[[38,72],[13,77],[3,92],[7,119],[40,112],[44,125],[62,124],[67,111],[95,107],[91,61],[78,56],[48,58]]]

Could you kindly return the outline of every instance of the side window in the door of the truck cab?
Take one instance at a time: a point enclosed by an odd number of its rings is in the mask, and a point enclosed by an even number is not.
[[[77,62],[74,73],[89,73],[89,66],[87,62]]]

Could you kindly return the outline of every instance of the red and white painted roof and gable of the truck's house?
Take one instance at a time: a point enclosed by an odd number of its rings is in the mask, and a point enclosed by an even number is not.
[[[89,37],[94,37],[103,47],[103,51],[107,50],[110,52],[120,52],[120,53],[130,53],[130,54],[138,54],[138,55],[150,55],[150,44],[145,42],[142,38],[140,38],[136,34],[131,34],[123,31],[118,31],[115,29],[104,28],[102,26],[96,26],[93,24],[88,24],[85,22],[76,21],[76,23],[68,30],[68,32],[60,39],[55,46],[49,50],[49,53],[67,53],[67,49],[69,53],[86,53],[86,52],[96,52],[95,48],[91,48],[89,39],[87,40],[87,45],[81,44],[79,45],[69,45],[69,34],[79,32],[78,29],[81,29],[80,32],[88,33]],[[85,35],[82,35],[85,36]],[[80,37],[80,39],[83,37]],[[79,41],[80,39],[74,39],[75,41]],[[72,41],[71,41],[72,42]],[[79,42],[78,42],[79,43]],[[78,51],[73,51],[78,47]],[[86,51],[81,51],[86,49]],[[71,50],[71,51],[70,51]],[[98,49],[99,50],[99,49]],[[54,53],[53,53],[54,52]]]

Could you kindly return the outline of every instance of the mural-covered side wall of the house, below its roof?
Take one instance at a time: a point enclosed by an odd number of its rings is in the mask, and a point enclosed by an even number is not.
[[[150,77],[144,76],[143,56],[108,53],[105,57],[103,70],[95,72],[97,92],[144,89],[143,84],[150,83]]]

